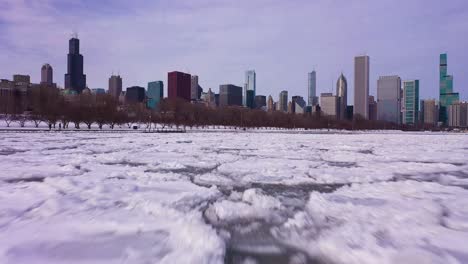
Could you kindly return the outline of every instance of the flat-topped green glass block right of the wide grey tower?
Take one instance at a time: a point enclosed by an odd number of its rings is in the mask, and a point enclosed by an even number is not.
[[[403,123],[417,125],[419,119],[419,80],[403,82]]]

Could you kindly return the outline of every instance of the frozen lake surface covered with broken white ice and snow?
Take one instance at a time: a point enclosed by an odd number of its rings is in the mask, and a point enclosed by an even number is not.
[[[0,263],[468,263],[468,136],[0,133]]]

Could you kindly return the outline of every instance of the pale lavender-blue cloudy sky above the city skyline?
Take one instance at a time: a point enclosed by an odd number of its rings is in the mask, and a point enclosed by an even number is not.
[[[68,39],[78,32],[90,88],[199,76],[200,85],[242,85],[255,69],[257,94],[335,92],[341,72],[353,100],[353,60],[367,54],[377,79],[420,80],[421,98],[438,98],[439,53],[448,53],[455,91],[468,99],[467,0],[0,0],[0,78],[40,81],[50,63],[63,86]]]

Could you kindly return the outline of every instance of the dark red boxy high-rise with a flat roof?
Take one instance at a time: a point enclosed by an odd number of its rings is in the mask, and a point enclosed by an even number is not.
[[[168,98],[180,98],[187,102],[191,99],[192,78],[190,74],[173,71],[168,74]]]

